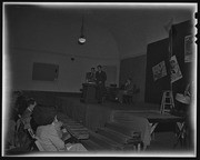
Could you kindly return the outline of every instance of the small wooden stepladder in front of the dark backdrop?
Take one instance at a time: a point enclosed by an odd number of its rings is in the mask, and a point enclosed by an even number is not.
[[[172,91],[163,91],[160,113],[169,112],[172,108],[174,108]]]

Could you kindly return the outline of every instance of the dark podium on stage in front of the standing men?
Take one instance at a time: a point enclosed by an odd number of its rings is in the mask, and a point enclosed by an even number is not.
[[[82,83],[83,102],[97,102],[96,90],[97,90],[96,83],[92,83],[92,82]]]

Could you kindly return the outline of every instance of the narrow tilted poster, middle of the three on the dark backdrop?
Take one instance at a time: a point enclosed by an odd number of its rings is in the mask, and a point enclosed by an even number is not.
[[[171,66],[171,83],[174,81],[178,81],[182,78],[181,70],[179,68],[179,63],[177,61],[176,56],[172,56],[170,59],[170,66]]]

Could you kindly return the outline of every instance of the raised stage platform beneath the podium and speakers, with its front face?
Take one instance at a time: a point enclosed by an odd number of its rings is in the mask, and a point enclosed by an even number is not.
[[[131,104],[106,101],[104,103],[84,103],[80,98],[57,98],[58,110],[88,129],[96,131],[110,121],[113,111],[159,111],[160,106],[134,102]]]

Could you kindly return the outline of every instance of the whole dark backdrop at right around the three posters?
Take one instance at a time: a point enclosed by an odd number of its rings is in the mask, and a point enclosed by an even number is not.
[[[184,62],[184,37],[192,34],[193,24],[184,21],[172,26],[172,56],[176,56],[182,78],[172,83],[173,96],[183,93],[192,79],[192,62]],[[171,38],[170,37],[170,38]],[[148,44],[146,72],[146,102],[161,103],[163,90],[170,89],[169,39]],[[152,67],[164,60],[168,76],[153,81]]]

